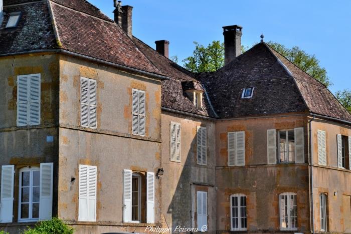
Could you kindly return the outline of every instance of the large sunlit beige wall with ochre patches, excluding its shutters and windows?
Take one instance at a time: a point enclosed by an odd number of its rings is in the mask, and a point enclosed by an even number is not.
[[[81,77],[97,80],[97,129],[80,127]],[[145,137],[132,135],[133,88],[146,92]],[[58,216],[70,221],[77,233],[88,229],[91,233],[144,231],[144,217],[141,224],[122,222],[123,169],[156,174],[160,168],[160,126],[160,81],[62,55]],[[78,222],[80,164],[97,166],[96,222]],[[160,222],[160,197],[160,179],[155,178],[155,223]]]

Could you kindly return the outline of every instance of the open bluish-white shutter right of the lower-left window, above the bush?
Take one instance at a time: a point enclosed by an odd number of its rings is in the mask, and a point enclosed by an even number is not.
[[[40,164],[40,208],[39,219],[52,218],[54,164]]]

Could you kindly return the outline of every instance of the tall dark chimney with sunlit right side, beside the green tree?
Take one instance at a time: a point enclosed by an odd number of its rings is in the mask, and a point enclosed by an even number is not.
[[[241,32],[242,29],[243,27],[239,25],[223,27],[225,65],[241,55],[241,35],[243,35]]]

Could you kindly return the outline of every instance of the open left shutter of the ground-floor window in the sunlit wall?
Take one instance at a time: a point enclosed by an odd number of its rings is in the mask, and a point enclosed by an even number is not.
[[[123,170],[123,222],[131,221],[132,172]]]

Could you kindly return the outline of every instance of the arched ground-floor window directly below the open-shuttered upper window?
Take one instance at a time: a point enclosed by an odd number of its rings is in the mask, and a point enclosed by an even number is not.
[[[297,230],[297,206],[295,193],[282,193],[279,195],[280,203],[280,229]]]

